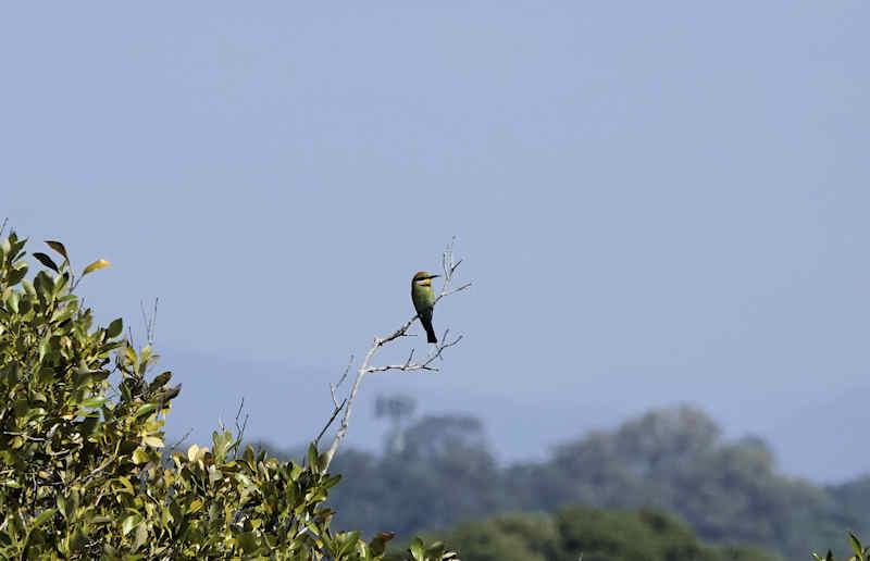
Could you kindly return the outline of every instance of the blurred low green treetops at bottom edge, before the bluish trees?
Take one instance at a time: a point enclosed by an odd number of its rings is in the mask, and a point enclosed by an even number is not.
[[[660,511],[568,507],[550,516],[508,514],[462,524],[448,534],[475,561],[778,561],[759,549],[701,544]]]

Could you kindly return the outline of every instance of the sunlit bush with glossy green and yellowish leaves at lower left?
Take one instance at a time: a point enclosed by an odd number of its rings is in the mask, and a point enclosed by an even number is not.
[[[74,294],[109,263],[76,278],[49,241],[58,257],[34,253],[42,269],[27,280],[25,242],[0,242],[0,558],[383,558],[393,534],[332,529],[324,501],[339,476],[313,445],[304,464],[281,462],[220,431],[210,448],[164,454],[181,386],[152,376],[151,347],[135,350],[121,320],[95,326]],[[410,549],[455,558],[440,544]]]

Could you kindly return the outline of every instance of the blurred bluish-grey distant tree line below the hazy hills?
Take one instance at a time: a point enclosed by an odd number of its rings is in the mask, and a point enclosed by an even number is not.
[[[544,462],[506,467],[478,419],[424,416],[400,432],[394,426],[384,453],[348,449],[334,467],[349,476],[331,495],[337,521],[400,536],[573,504],[661,510],[705,541],[755,545],[787,559],[843,544],[848,529],[870,533],[870,476],[826,487],[788,477],[762,440],[724,440],[687,406],[587,434]],[[450,535],[464,535],[461,527]]]

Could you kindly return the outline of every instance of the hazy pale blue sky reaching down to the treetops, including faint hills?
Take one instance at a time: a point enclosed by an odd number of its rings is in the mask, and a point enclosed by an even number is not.
[[[308,436],[286,381],[326,415],[456,235],[467,339],[368,397],[507,458],[693,401],[791,473],[870,471],[870,4],[7,4],[0,214],[112,261],[104,320],[160,297],[198,431],[245,395]]]

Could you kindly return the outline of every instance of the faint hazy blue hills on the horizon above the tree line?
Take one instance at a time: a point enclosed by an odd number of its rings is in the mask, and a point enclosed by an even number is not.
[[[328,417],[328,384],[344,366],[336,369],[288,366],[279,362],[232,360],[196,352],[164,349],[162,363],[184,383],[184,391],[173,407],[171,434],[186,442],[208,442],[219,422],[233,426],[234,415],[244,398],[249,414],[246,434],[251,440],[264,440],[283,449],[303,446]],[[761,396],[748,400],[747,410],[736,410],[728,395],[716,389],[704,395],[682,390],[671,398],[671,386],[649,382],[625,396],[624,388],[593,379],[587,394],[554,396],[511,395],[492,388],[459,387],[445,361],[444,373],[413,373],[369,377],[360,392],[347,442],[350,447],[377,452],[388,424],[374,415],[378,396],[405,395],[417,400],[414,417],[460,414],[484,421],[492,451],[502,464],[539,461],[557,446],[586,436],[592,431],[609,431],[652,409],[689,404],[703,410],[723,429],[723,439],[746,436],[763,438],[773,449],[780,469],[817,483],[840,483],[870,472],[860,464],[832,470],[824,451],[848,450],[860,459],[862,442],[857,432],[842,431],[863,419],[863,397],[870,385],[830,399],[809,401],[793,409],[771,411],[763,408]],[[258,391],[249,379],[268,384],[270,391]],[[623,378],[624,379],[624,378]],[[198,396],[217,388],[210,408],[199,404]],[[287,427],[291,427],[290,431]],[[815,447],[807,453],[807,442]],[[856,452],[857,451],[857,452]],[[844,467],[844,466],[838,466]]]

